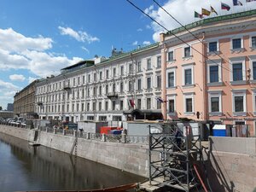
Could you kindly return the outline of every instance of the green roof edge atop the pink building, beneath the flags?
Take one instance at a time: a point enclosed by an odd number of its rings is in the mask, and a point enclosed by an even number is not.
[[[256,15],[256,9],[249,10],[249,11],[244,11],[244,12],[240,12],[240,13],[236,13],[236,14],[223,15],[223,16],[207,18],[207,19],[204,19],[204,20],[198,20],[198,21],[190,23],[186,26],[181,26],[181,27],[178,27],[177,29],[174,29],[170,32],[166,32],[166,35],[172,35],[173,33],[177,34],[179,32],[183,32],[183,31],[185,31],[184,27],[186,27],[187,29],[192,29],[192,28],[195,28],[196,26],[204,26],[206,24],[210,24],[210,23],[214,23],[214,22],[218,22],[218,21],[234,20],[234,19],[237,19],[237,18],[252,16],[252,15]]]

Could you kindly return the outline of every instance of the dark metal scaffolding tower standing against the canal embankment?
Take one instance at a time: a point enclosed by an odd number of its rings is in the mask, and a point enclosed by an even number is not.
[[[200,134],[192,135],[190,126],[180,128],[177,122],[148,128],[149,184],[191,191],[199,184],[194,167],[201,161]]]

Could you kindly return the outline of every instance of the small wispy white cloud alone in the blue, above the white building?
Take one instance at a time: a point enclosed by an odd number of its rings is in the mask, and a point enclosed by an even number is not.
[[[90,34],[88,34],[87,32],[83,32],[83,31],[74,31],[72,28],[70,27],[62,27],[62,26],[58,26],[61,35],[68,35],[72,38],[75,38],[77,41],[79,42],[88,42],[93,43],[95,41],[100,41],[99,38],[96,37],[92,37]]]

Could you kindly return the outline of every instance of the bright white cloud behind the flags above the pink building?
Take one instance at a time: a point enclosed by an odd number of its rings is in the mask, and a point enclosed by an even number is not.
[[[229,4],[230,7],[233,5],[232,0],[226,0],[225,3]],[[244,3],[244,2],[242,2]],[[218,12],[218,15],[227,15],[232,13],[237,13],[244,11],[245,6],[235,6],[231,8],[230,11],[221,10],[220,2],[216,0],[209,0],[209,1],[198,1],[198,0],[169,0],[165,4],[162,5],[164,9],[166,9],[173,17],[175,17],[179,22],[183,25],[189,24],[194,22],[195,19],[194,14],[195,11],[201,13],[201,8],[210,10],[210,6]],[[246,3],[247,9],[255,9],[256,3]],[[149,8],[144,10],[148,15],[152,16],[154,20],[157,20],[161,25],[165,26],[168,30],[175,29],[180,25],[177,21],[173,20],[172,17],[166,14],[164,10],[160,9],[157,5],[150,6]],[[210,15],[211,17],[216,16],[215,14]],[[207,18],[207,17],[206,17]],[[148,26],[146,26],[148,28]],[[151,27],[154,30],[153,39],[154,41],[159,41],[159,33],[165,31],[161,26],[158,24],[151,22]]]

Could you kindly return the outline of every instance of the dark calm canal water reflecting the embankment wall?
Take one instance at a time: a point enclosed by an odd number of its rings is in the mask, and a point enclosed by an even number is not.
[[[101,189],[145,178],[0,133],[0,191]]]

